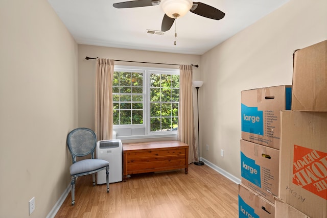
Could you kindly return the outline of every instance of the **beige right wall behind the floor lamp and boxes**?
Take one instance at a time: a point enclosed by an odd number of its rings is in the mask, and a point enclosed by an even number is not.
[[[202,55],[201,156],[241,178],[241,91],[291,85],[293,51],[326,39],[327,1],[291,0]]]

